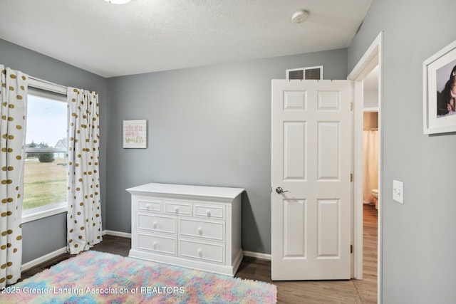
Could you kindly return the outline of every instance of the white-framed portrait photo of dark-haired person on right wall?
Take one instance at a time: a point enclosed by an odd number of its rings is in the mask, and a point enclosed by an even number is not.
[[[456,132],[456,41],[423,62],[423,132]]]

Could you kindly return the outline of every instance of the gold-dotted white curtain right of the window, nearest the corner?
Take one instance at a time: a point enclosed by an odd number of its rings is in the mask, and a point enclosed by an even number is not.
[[[68,247],[81,253],[102,241],[98,93],[68,88]]]

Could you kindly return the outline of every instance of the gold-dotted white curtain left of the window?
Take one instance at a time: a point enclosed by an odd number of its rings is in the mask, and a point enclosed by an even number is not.
[[[0,289],[21,278],[28,76],[0,65]]]

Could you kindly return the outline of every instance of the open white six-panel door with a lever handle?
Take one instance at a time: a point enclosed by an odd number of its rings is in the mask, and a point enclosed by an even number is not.
[[[350,278],[351,91],[272,80],[273,280]]]

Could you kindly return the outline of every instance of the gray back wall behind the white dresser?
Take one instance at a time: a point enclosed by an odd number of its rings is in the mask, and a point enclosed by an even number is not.
[[[346,49],[108,79],[106,229],[130,232],[128,187],[242,187],[242,246],[271,253],[271,79],[324,65],[345,79]],[[123,149],[123,120],[146,119],[146,150]]]

